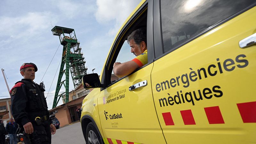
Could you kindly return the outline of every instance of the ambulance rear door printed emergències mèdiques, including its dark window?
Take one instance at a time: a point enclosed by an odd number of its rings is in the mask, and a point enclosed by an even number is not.
[[[255,143],[255,1],[154,4],[152,91],[167,143]]]

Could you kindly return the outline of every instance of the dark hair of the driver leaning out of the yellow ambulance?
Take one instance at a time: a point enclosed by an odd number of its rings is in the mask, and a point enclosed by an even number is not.
[[[127,42],[130,44],[130,40],[134,40],[135,44],[140,44],[142,41],[147,45],[147,29],[139,28],[134,30],[128,37]]]

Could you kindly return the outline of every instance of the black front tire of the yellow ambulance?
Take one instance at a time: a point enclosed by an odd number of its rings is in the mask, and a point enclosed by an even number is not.
[[[90,132],[90,134],[89,134]],[[96,135],[97,139],[98,139],[98,142],[97,143],[91,143],[89,141],[89,138],[91,138],[92,135],[94,134]],[[95,137],[94,137],[95,139]],[[85,137],[85,140],[86,140],[86,144],[104,144],[103,140],[102,140],[102,137],[100,135],[100,132],[98,131],[97,127],[95,126],[95,124],[93,124],[93,122],[89,123],[86,127],[86,137]]]

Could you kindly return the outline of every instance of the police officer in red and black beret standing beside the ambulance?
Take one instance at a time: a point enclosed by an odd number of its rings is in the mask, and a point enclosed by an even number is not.
[[[56,128],[49,118],[44,84],[33,82],[36,71],[34,63],[24,63],[20,67],[24,78],[15,83],[10,91],[12,116],[24,128],[25,143],[51,144],[51,134],[55,134]]]

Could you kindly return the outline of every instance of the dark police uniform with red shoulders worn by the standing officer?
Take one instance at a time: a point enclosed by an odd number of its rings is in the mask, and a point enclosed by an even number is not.
[[[35,67],[36,71],[37,68]],[[41,88],[42,89],[42,88]],[[21,79],[11,92],[12,116],[21,125],[31,122],[34,132],[29,134],[31,143],[51,144],[52,121],[44,97],[44,90],[30,79]]]

